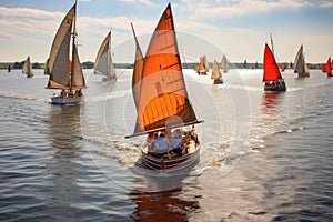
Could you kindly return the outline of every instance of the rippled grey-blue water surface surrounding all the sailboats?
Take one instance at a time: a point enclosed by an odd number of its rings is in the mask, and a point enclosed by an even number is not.
[[[112,84],[84,70],[82,105],[48,104],[47,77],[0,71],[1,221],[330,221],[333,79],[321,71],[265,93],[262,70],[225,84],[185,70],[202,140],[191,172],[144,170],[125,140],[135,120],[131,70]]]

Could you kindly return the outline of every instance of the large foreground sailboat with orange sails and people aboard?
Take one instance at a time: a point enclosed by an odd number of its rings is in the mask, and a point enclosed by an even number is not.
[[[203,121],[196,119],[189,101],[171,4],[160,18],[144,58],[134,30],[133,34],[137,52],[132,93],[138,115],[134,133],[125,138],[148,135],[141,153],[149,169],[163,172],[189,169],[198,162],[200,153],[194,124]],[[186,129],[189,125],[192,128]],[[154,140],[158,133],[160,138]]]

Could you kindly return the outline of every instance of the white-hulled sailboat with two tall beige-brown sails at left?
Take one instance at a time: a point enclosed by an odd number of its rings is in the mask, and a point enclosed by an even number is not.
[[[50,75],[47,89],[61,90],[60,95],[51,98],[52,104],[72,104],[83,100],[81,90],[85,88],[85,81],[75,46],[75,12],[77,2],[63,18],[46,62],[44,74]]]

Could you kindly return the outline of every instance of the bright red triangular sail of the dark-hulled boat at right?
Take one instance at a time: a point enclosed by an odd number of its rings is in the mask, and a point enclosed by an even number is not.
[[[263,63],[264,63],[263,82],[276,81],[278,79],[282,79],[273,52],[271,51],[268,43],[265,44],[265,49],[264,49]]]

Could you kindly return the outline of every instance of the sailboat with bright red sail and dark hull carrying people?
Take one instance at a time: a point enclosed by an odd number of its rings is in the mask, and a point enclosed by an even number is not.
[[[285,91],[285,82],[281,75],[274,54],[268,43],[265,43],[263,63],[264,73],[262,81],[265,82],[264,91]]]

